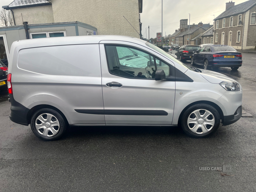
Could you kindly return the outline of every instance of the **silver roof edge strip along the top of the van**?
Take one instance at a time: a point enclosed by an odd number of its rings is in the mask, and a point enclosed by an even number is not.
[[[55,38],[36,38],[15,41],[13,48],[18,49],[32,47],[46,47],[58,45],[75,45],[75,44],[99,44],[100,41],[128,41],[140,45],[145,45],[146,41],[139,38],[133,38],[121,35],[88,35],[88,36],[72,36],[72,37],[55,37]]]

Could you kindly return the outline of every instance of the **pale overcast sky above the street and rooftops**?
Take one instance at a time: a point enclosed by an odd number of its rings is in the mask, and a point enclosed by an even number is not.
[[[0,0],[0,7],[7,6],[13,0]],[[173,34],[180,27],[180,19],[189,19],[190,24],[199,22],[213,24],[214,16],[217,17],[226,9],[229,0],[163,0],[163,35]],[[235,5],[247,0],[233,0]],[[151,38],[161,32],[162,25],[162,0],[143,0],[143,12],[140,15],[142,34],[145,38],[146,27],[150,27]],[[147,30],[148,38],[148,30]]]

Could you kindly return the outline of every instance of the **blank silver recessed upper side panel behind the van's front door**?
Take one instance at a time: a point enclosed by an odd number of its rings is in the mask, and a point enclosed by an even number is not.
[[[22,49],[18,67],[46,75],[101,77],[99,45],[65,45]]]

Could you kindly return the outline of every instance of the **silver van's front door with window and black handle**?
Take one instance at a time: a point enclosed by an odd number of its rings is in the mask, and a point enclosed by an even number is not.
[[[154,76],[157,69],[172,76],[174,67],[148,51],[131,45],[100,44],[107,125],[172,124],[175,81],[155,81]]]

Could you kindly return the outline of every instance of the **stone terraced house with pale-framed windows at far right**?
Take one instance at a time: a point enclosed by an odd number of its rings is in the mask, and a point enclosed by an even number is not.
[[[215,19],[214,44],[230,45],[235,49],[253,49],[256,46],[256,0],[235,6],[226,3],[226,11]]]

